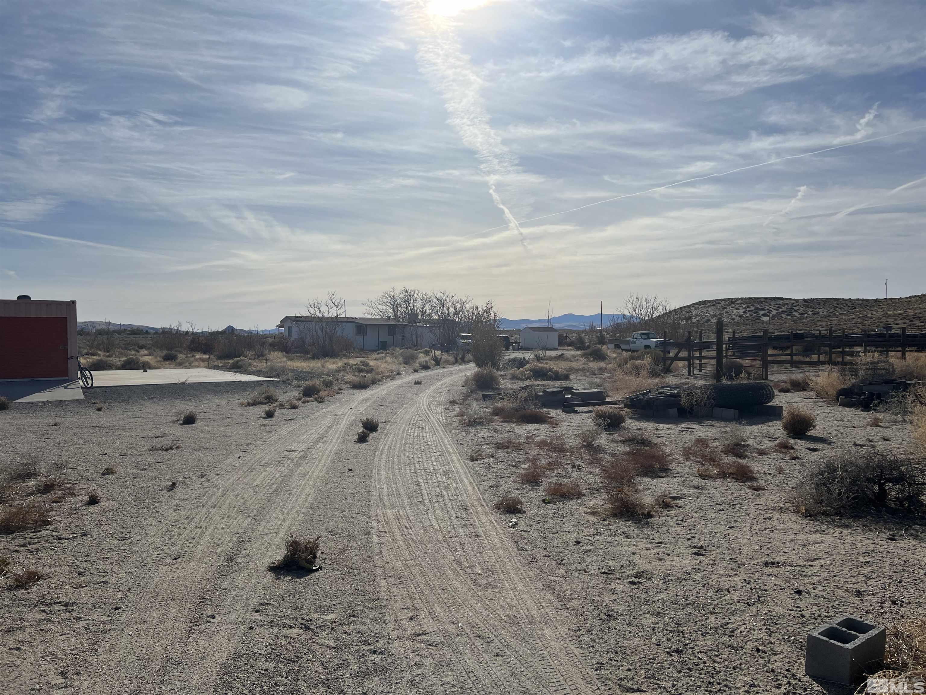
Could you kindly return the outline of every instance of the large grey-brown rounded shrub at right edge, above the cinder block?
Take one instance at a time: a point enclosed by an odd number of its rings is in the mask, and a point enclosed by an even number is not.
[[[845,451],[805,472],[795,489],[807,515],[923,509],[922,461],[875,449]]]

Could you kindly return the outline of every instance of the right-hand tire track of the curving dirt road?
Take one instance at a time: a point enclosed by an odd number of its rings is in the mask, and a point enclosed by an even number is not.
[[[401,411],[374,464],[374,536],[395,649],[414,655],[426,639],[463,691],[599,693],[433,411],[451,378]]]

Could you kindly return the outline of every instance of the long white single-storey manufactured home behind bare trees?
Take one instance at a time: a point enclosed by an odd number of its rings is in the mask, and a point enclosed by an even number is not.
[[[348,338],[358,350],[388,350],[391,347],[433,347],[437,332],[432,326],[397,322],[369,316],[284,316],[277,329],[294,340],[311,340],[319,323],[335,322],[337,334]]]

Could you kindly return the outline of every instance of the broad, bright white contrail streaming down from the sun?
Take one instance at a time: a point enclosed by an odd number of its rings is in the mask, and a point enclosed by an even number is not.
[[[502,144],[502,139],[492,129],[489,113],[480,95],[482,80],[472,68],[469,57],[460,50],[450,21],[433,16],[428,12],[427,4],[420,1],[407,4],[405,10],[420,34],[419,69],[444,97],[449,122],[464,145],[475,151],[479,169],[489,183],[489,195],[507,220],[502,227],[517,232],[521,246],[527,248],[519,222],[496,190],[496,184],[519,173],[518,158]]]

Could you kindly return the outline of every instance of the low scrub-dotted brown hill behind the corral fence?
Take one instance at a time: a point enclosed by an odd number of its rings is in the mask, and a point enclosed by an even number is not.
[[[729,297],[680,307],[682,321],[707,327],[722,318],[727,328],[770,331],[878,330],[885,325],[926,331],[926,295],[855,299],[845,297]]]

